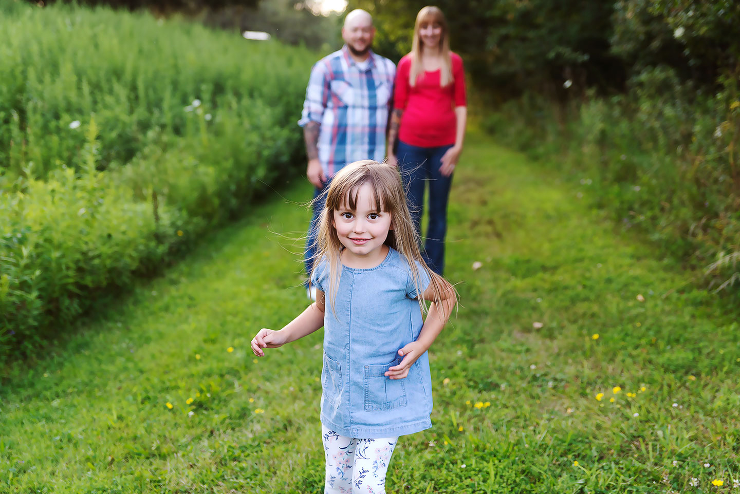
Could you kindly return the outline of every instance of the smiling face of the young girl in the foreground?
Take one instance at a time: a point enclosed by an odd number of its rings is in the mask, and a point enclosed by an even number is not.
[[[335,210],[332,217],[337,237],[346,247],[342,253],[343,262],[351,264],[351,267],[374,267],[383,262],[388,253],[383,243],[393,228],[391,214],[377,210],[369,183],[363,183],[357,189],[357,207],[354,210],[347,202]]]

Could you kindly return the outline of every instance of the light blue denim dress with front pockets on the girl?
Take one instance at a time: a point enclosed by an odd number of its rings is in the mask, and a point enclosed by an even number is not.
[[[421,289],[429,284],[417,265]],[[329,290],[329,266],[321,260],[312,285]],[[428,354],[405,379],[383,374],[400,363],[398,351],[419,337],[423,318],[411,268],[390,249],[370,269],[342,266],[334,310],[326,294],[321,372],[321,423],[342,436],[380,439],[431,427]]]

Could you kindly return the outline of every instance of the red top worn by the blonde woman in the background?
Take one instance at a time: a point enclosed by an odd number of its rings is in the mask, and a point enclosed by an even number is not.
[[[408,83],[411,56],[406,55],[398,62],[393,106],[403,110],[400,141],[420,147],[455,143],[457,118],[454,109],[465,106],[465,73],[460,55],[450,55],[453,81],[445,87],[440,87],[440,70],[423,72],[412,87]]]

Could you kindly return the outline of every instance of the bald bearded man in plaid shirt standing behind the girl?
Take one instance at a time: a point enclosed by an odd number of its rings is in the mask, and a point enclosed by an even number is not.
[[[386,124],[396,66],[371,50],[375,28],[365,10],[344,19],[344,46],[314,65],[298,125],[303,127],[309,164],[306,176],[315,189],[314,214],[306,241],[306,274],[316,255],[316,225],[323,209],[321,192],[347,163],[383,161]],[[306,285],[308,289],[309,286]],[[308,291],[309,298],[315,295]]]

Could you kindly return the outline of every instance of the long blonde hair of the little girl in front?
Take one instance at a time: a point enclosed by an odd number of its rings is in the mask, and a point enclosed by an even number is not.
[[[414,228],[408,206],[406,206],[403,182],[397,168],[387,163],[360,160],[345,166],[332,178],[332,182],[329,183],[328,189],[324,192],[326,194],[326,205],[319,216],[317,226],[318,251],[314,259],[314,270],[320,264],[318,260],[326,258],[329,264],[329,289],[326,291],[326,297],[329,299],[332,310],[334,310],[334,301],[336,300],[339,279],[342,273],[340,254],[344,248],[339,241],[337,229],[332,221],[334,212],[347,206],[354,210],[357,207],[359,189],[365,184],[369,184],[372,189],[372,200],[377,211],[391,214],[391,226],[393,228],[388,231],[385,244],[394,248],[406,258],[411,268],[411,278],[418,294],[421,310],[425,312],[426,305],[422,297],[420,273],[414,261],[422,266],[431,280],[430,286],[434,290],[434,302],[439,304],[445,291],[451,290],[456,294],[452,285],[443,277],[440,277],[439,274],[431,271],[421,257],[419,235]]]

